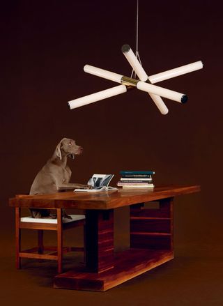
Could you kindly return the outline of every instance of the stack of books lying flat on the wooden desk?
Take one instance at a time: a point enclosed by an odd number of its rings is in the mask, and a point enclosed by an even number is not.
[[[122,188],[154,188],[154,171],[120,171],[121,180],[117,186]]]

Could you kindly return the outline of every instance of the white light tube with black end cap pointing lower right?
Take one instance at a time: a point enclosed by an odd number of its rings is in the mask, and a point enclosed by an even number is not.
[[[169,89],[164,89],[160,86],[155,86],[141,81],[137,83],[137,89],[140,89],[141,91],[146,91],[148,93],[153,93],[155,95],[161,95],[161,97],[174,100],[176,102],[187,102],[187,95],[184,95],[183,93],[170,91]]]

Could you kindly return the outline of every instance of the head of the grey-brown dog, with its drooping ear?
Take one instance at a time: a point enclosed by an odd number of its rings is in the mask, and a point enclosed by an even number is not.
[[[83,152],[82,146],[77,146],[75,140],[63,138],[56,146],[56,156],[62,159],[62,155],[74,159],[75,155],[80,155]]]

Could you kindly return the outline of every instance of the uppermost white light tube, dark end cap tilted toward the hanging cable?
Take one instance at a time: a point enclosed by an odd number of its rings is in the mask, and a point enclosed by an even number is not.
[[[123,45],[121,48],[123,54],[125,55],[127,61],[132,66],[132,69],[135,71],[135,73],[138,75],[139,79],[142,82],[146,82],[148,79],[148,75],[146,75],[146,72],[144,71],[144,68],[141,67],[141,64],[139,63],[137,56],[134,55],[132,49],[129,45]]]

